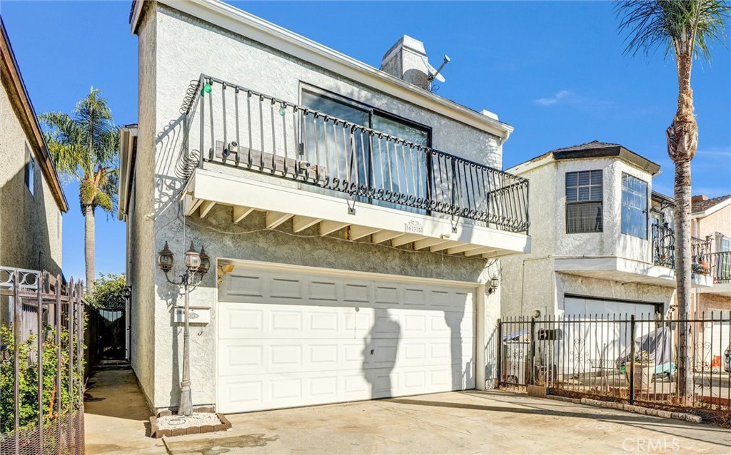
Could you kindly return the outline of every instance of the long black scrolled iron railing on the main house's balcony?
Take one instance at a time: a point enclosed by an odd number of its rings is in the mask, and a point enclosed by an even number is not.
[[[465,158],[205,75],[181,113],[183,167],[216,161],[363,202],[529,227],[528,180]]]

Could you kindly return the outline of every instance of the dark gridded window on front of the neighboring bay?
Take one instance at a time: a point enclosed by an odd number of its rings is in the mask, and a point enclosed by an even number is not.
[[[566,232],[602,232],[602,171],[566,173]]]

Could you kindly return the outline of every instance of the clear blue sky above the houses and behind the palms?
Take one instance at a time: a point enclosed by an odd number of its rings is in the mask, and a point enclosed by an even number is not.
[[[402,34],[424,42],[432,64],[446,53],[437,93],[515,127],[510,167],[553,148],[619,142],[662,166],[654,189],[673,191],[664,131],[675,113],[675,63],[659,50],[628,58],[609,2],[248,2],[232,4],[346,55],[379,66]],[[5,26],[37,112],[70,111],[102,88],[119,125],[137,121],[137,37],[131,1],[9,1]],[[245,76],[242,76],[245,77]],[[246,80],[239,81],[242,84]],[[731,193],[731,51],[696,61],[700,129],[694,194]],[[459,150],[447,150],[459,153]],[[64,272],[83,277],[83,216],[66,187]],[[124,272],[124,223],[99,213],[96,271]]]

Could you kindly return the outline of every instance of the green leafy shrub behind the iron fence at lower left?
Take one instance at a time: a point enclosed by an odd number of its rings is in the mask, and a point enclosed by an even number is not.
[[[43,421],[49,423],[58,418],[57,400],[61,398],[61,413],[65,413],[74,403],[81,402],[83,397],[76,386],[83,381],[83,376],[75,369],[69,375],[69,355],[75,362],[83,352],[84,346],[78,343],[77,335],[72,334],[70,341],[74,348],[69,353],[69,331],[60,328],[61,335],[61,389],[56,387],[56,356],[58,343],[56,331],[46,327],[42,341],[43,366]],[[12,431],[15,424],[15,339],[13,327],[0,326],[0,433]],[[20,362],[18,362],[19,404],[18,416],[20,428],[32,427],[38,423],[38,362],[37,334],[31,334],[26,341],[18,345]],[[83,360],[82,360],[83,362]],[[69,391],[69,380],[75,385]]]

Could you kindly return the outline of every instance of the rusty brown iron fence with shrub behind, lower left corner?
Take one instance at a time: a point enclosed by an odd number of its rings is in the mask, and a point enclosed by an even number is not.
[[[82,284],[0,267],[0,303],[0,454],[83,454]]]

